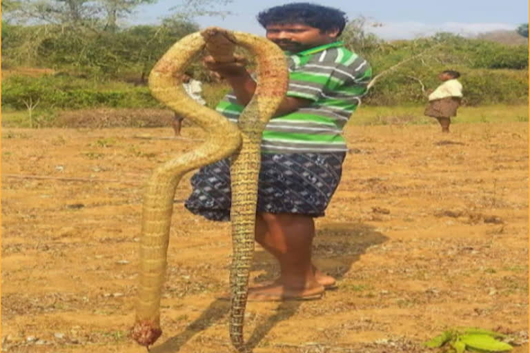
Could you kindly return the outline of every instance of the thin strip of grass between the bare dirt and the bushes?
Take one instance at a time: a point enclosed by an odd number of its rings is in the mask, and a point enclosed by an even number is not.
[[[228,91],[228,86],[204,84],[204,99],[213,108]],[[369,106],[362,105],[353,113],[349,125],[421,125],[435,124],[435,119],[424,117],[424,106]],[[528,105],[463,106],[452,123],[527,122]],[[79,110],[35,110],[34,125],[40,128],[156,128],[169,127],[173,112],[159,108],[93,108]],[[35,121],[37,122],[35,124]],[[2,126],[30,128],[26,110],[4,109]]]

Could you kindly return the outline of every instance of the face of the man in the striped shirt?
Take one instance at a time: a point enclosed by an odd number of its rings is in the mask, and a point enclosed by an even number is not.
[[[337,30],[320,32],[320,29],[300,23],[282,23],[266,26],[266,37],[287,52],[301,52],[337,40]]]

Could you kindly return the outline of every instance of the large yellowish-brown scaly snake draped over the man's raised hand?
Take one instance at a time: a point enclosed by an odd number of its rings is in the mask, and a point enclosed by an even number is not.
[[[237,125],[190,99],[181,88],[182,73],[204,49],[217,62],[234,61],[235,46],[253,52],[257,59],[255,94]],[[160,297],[166,275],[173,197],[181,177],[190,170],[232,156],[233,261],[230,268],[230,340],[237,352],[250,352],[244,344],[243,324],[248,274],[254,252],[257,177],[260,143],[266,123],[286,92],[288,71],[282,50],[264,38],[221,28],[206,28],[175,43],[157,62],[149,76],[153,96],[180,116],[208,133],[206,142],[159,166],[144,194],[140,274],[135,325],[131,336],[141,345],[152,345],[161,335]]]

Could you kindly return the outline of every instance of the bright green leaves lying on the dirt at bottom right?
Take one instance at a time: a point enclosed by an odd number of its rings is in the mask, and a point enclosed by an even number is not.
[[[508,336],[477,327],[455,327],[424,343],[426,347],[444,349],[444,352],[507,352],[511,345],[500,341]]]

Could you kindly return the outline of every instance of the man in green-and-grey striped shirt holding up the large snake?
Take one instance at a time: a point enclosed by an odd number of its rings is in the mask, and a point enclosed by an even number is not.
[[[266,37],[288,57],[288,92],[262,140],[262,168],[255,239],[279,261],[273,283],[251,288],[250,301],[315,299],[335,279],[311,262],[315,223],[324,216],[342,172],[346,143],[342,128],[366,93],[371,68],[337,41],[344,12],[311,3],[289,3],[260,12]],[[217,110],[237,121],[256,83],[242,61],[215,63],[233,88]],[[229,161],[208,165],[192,177],[188,210],[215,221],[230,217]]]

